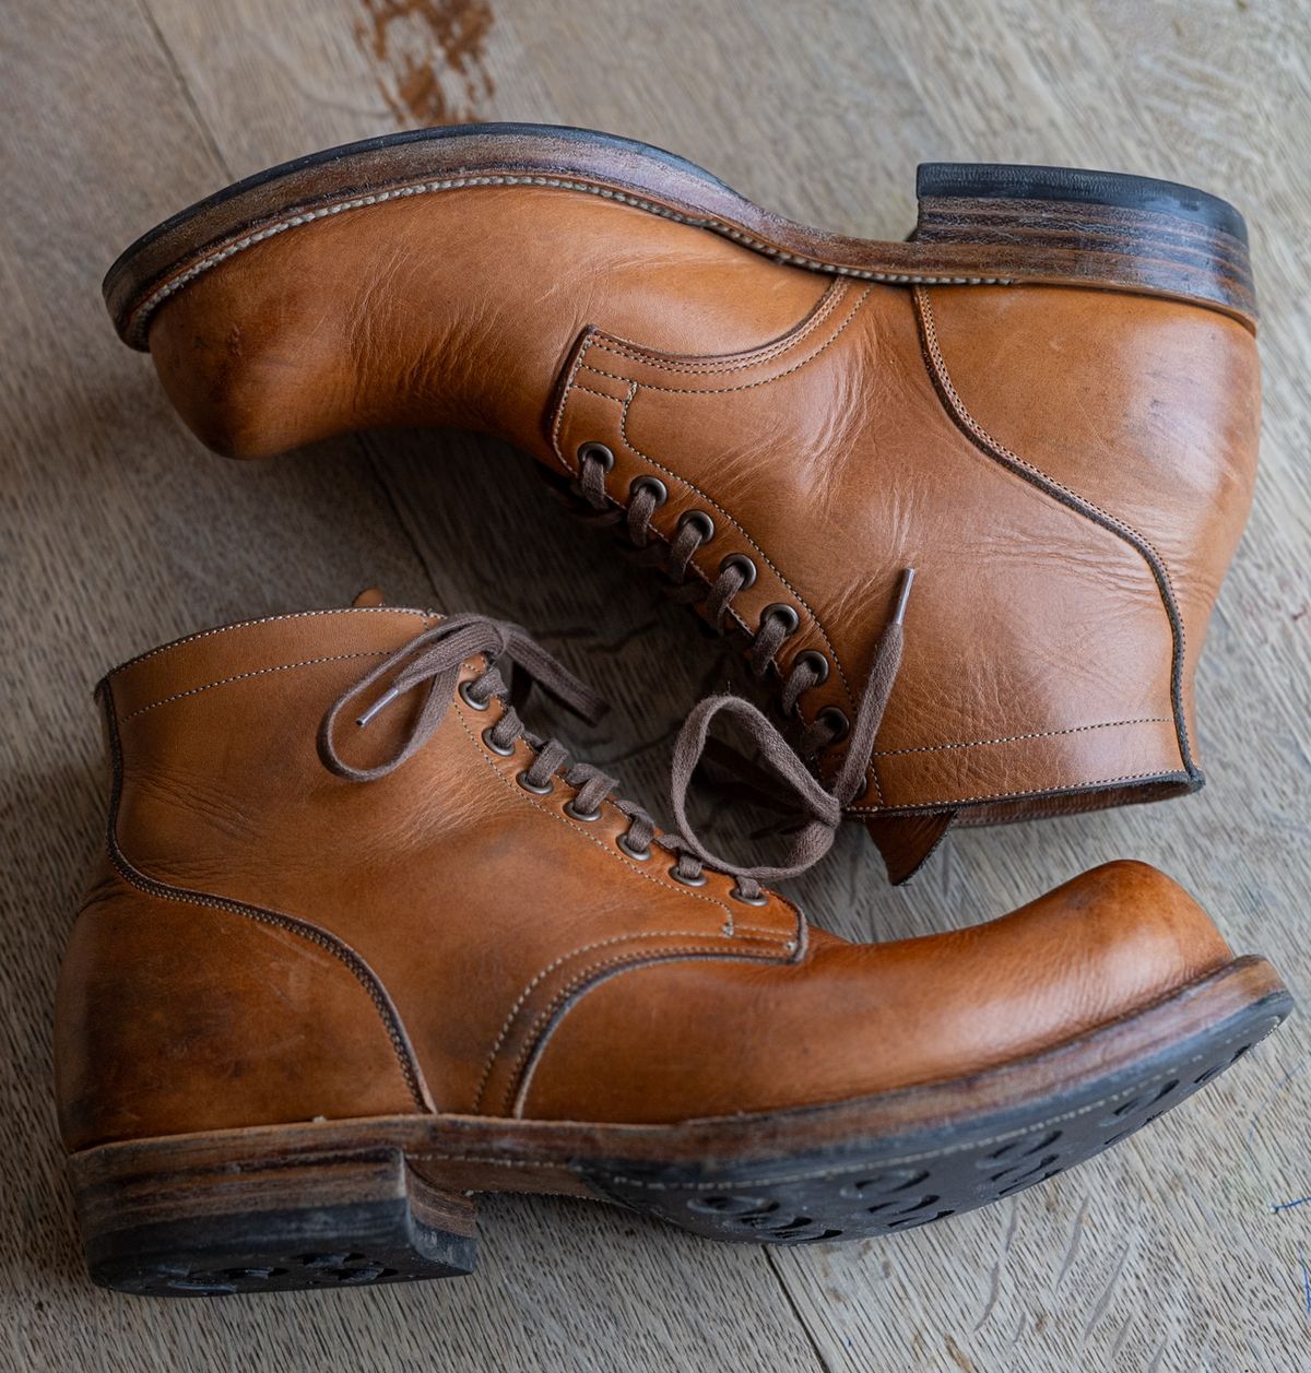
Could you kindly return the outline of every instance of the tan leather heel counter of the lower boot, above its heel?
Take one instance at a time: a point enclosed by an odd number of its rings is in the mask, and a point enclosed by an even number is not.
[[[140,890],[111,855],[59,975],[55,1092],[70,1152],[421,1108],[379,1008],[328,947]]]

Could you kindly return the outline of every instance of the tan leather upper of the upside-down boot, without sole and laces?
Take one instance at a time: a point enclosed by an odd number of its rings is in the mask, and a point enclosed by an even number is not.
[[[213,448],[379,424],[493,431],[653,516],[710,514],[852,714],[903,567],[906,655],[852,810],[1009,820],[1200,784],[1192,682],[1246,514],[1255,342],[1170,299],[826,279],[567,189],[483,187],[280,233],[159,309],[159,375]],[[832,772],[842,744],[822,759]],[[885,849],[895,847],[888,829]],[[914,854],[940,825],[907,827]]]

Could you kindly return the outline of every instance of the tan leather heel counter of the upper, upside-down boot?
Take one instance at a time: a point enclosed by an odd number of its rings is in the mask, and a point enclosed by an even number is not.
[[[1159,563],[1163,651],[1178,659],[1172,708],[1194,772],[1193,676],[1256,478],[1253,335],[1215,310],[1109,291],[921,295],[979,427]]]

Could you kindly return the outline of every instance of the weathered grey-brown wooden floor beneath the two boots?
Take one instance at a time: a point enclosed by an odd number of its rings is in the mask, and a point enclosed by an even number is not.
[[[726,1248],[601,1207],[500,1199],[482,1207],[472,1278],[213,1304],[121,1299],[84,1278],[49,1050],[59,954],[104,818],[89,691],[107,666],[375,581],[395,600],[512,615],[614,699],[589,752],[623,759],[656,810],[670,732],[726,671],[686,611],[544,503],[516,454],[410,434],[222,463],[114,339],[99,279],[156,220],[301,152],[467,118],[630,135],[796,218],[877,238],[906,232],[914,166],[935,158],[1133,170],[1246,211],[1266,431],[1198,681],[1209,787],[962,835],[906,891],[881,883],[851,829],[796,890],[818,924],[894,936],[1133,855],[1311,993],[1311,10],[15,0],[0,44],[0,1366],[1311,1368],[1311,1015],[1111,1155],[896,1240]]]

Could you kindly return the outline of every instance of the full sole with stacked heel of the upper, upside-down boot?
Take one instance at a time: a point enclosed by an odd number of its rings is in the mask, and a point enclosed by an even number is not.
[[[1171,181],[929,163],[918,173],[916,232],[883,243],[796,224],[649,144],[533,124],[393,133],[247,177],[137,239],[106,275],[104,299],[122,339],[146,349],[155,310],[237,253],[325,216],[485,185],[597,195],[817,272],[895,284],[1102,287],[1256,323],[1242,217]]]

